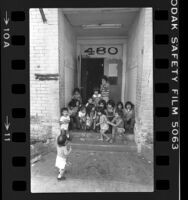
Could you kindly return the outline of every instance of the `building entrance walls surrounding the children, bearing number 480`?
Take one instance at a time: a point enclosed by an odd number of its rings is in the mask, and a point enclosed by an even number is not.
[[[83,86],[82,59],[89,57],[103,59],[104,75],[116,82],[112,97],[135,104],[142,137],[152,142],[152,9],[136,10],[125,35],[106,36],[105,32],[78,34],[71,12],[67,18],[62,9],[30,9],[31,137],[59,133],[60,108],[67,105],[75,87]],[[84,54],[91,49],[95,53]]]

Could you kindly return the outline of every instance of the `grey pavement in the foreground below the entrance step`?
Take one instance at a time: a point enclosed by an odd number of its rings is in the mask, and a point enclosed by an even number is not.
[[[80,147],[83,145],[79,145]],[[73,145],[66,180],[57,181],[52,151],[31,166],[31,192],[152,192],[153,163],[132,148],[124,151],[99,146],[79,149]],[[90,147],[90,146],[89,146]]]

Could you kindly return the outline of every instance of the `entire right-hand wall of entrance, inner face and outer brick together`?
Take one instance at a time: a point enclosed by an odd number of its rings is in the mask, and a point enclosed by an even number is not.
[[[143,8],[129,31],[127,45],[127,96],[135,104],[143,141],[153,140],[152,9]],[[150,141],[149,141],[150,140]]]

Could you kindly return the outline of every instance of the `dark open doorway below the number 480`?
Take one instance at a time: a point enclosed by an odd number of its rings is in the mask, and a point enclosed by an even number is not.
[[[83,102],[93,95],[95,87],[100,88],[104,75],[104,58],[82,58],[81,62],[81,94]]]

